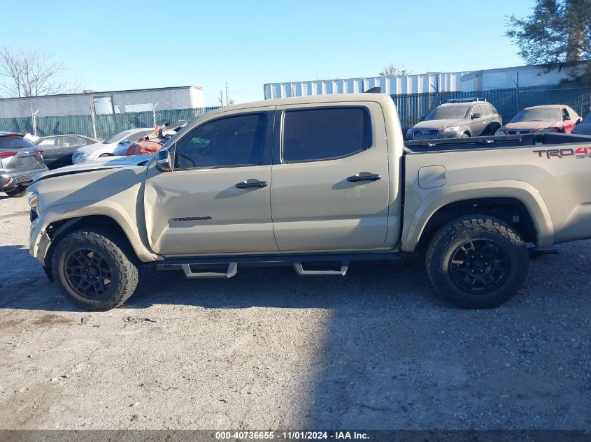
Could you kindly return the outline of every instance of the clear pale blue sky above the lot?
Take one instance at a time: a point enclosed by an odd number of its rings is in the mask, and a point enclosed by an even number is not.
[[[4,4],[3,4],[4,3]],[[216,105],[263,98],[263,84],[519,66],[506,17],[534,0],[27,1],[0,45],[52,52],[99,91],[194,84]],[[1,9],[13,0],[0,0]]]

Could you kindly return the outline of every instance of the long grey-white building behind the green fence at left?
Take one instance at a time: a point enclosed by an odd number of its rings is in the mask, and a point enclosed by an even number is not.
[[[166,109],[204,108],[204,91],[198,86],[160,87],[127,91],[87,92],[22,98],[1,98],[0,118],[45,115],[90,115]]]

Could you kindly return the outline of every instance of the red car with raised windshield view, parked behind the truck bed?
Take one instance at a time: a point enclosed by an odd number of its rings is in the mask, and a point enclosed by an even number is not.
[[[571,133],[581,117],[569,106],[551,104],[520,110],[495,135],[523,135],[538,131]]]

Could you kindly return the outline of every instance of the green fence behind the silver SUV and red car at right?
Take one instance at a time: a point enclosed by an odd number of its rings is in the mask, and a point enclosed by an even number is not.
[[[591,107],[591,88],[577,84],[555,84],[541,87],[492,89],[490,91],[439,92],[431,94],[392,95],[400,120],[412,126],[430,110],[452,98],[483,97],[508,121],[523,108],[544,104],[569,105],[584,116]]]

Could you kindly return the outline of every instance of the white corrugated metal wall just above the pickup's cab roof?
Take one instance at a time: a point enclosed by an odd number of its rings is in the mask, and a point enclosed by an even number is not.
[[[311,80],[304,82],[269,83],[264,85],[264,98],[286,98],[324,94],[355,94],[372,87],[380,87],[390,95],[424,94],[439,91],[458,91],[462,72],[395,75],[393,77],[367,77],[337,80]]]

